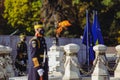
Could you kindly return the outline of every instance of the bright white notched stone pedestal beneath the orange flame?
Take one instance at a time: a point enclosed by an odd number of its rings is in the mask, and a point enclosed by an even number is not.
[[[53,45],[48,52],[49,77],[51,80],[62,78],[64,74],[64,51],[61,47]]]

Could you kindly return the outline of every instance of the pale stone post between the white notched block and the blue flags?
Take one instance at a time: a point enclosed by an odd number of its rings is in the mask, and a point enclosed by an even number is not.
[[[66,60],[64,63],[65,73],[63,80],[81,80],[78,59],[76,57],[80,47],[77,44],[68,44],[64,46]]]

